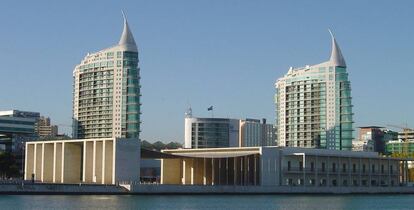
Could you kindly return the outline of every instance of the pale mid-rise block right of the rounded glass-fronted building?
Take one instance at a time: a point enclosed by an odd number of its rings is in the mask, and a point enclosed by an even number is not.
[[[257,119],[240,120],[239,146],[276,146],[276,134],[272,124]]]

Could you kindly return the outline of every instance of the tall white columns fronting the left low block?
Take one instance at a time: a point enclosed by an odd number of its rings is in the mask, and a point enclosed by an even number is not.
[[[115,141],[28,142],[25,180],[47,183],[115,183]]]

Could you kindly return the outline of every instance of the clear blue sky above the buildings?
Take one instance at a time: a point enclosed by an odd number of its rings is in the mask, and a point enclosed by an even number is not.
[[[38,111],[70,133],[72,71],[116,44],[124,9],[139,48],[141,139],[183,142],[184,112],[273,122],[274,82],[348,65],[355,127],[414,127],[414,1],[2,1],[0,110]]]

